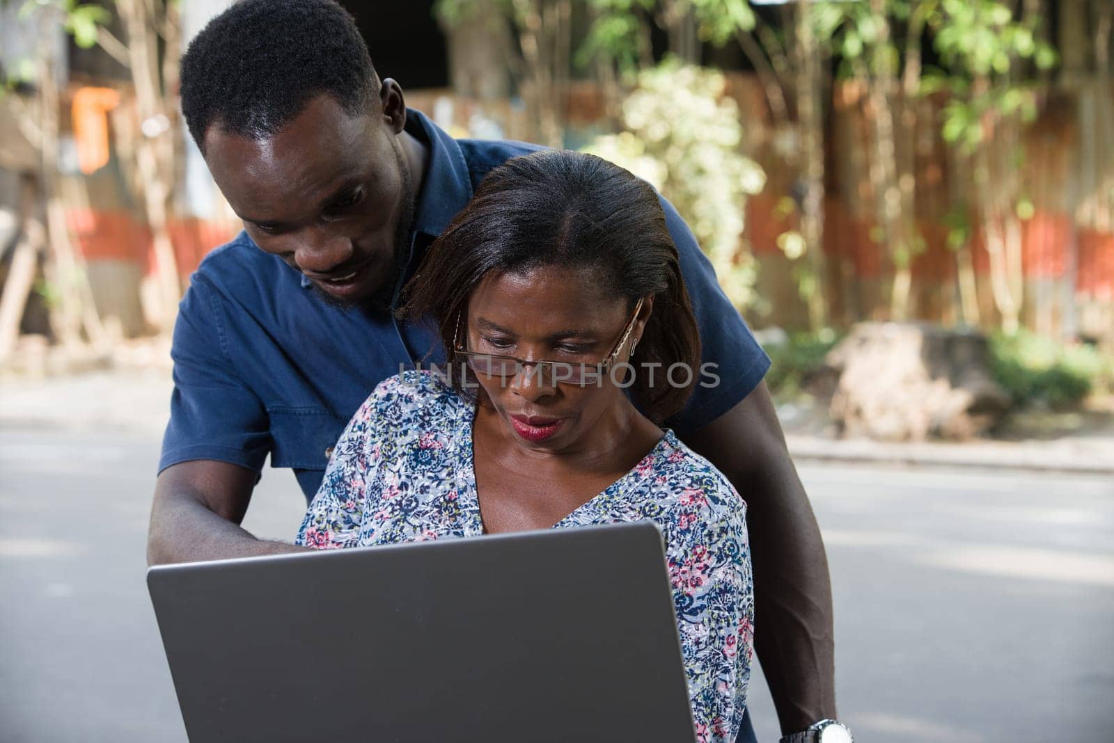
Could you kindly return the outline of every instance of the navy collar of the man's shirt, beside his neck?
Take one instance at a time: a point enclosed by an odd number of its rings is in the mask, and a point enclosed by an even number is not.
[[[457,140],[421,111],[407,109],[405,130],[429,148],[429,162],[414,205],[413,232],[436,238],[472,198],[468,162],[465,161],[465,153]],[[411,239],[413,237],[412,234]],[[422,252],[424,251],[414,251],[411,261],[420,260]],[[312,286],[313,281],[302,274],[302,287]]]

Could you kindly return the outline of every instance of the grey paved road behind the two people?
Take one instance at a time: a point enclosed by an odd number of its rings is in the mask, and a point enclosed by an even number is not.
[[[156,455],[150,436],[0,429],[0,741],[185,740],[144,586]],[[802,476],[858,740],[1114,740],[1114,482]],[[290,474],[268,470],[247,526],[289,538],[301,513]]]

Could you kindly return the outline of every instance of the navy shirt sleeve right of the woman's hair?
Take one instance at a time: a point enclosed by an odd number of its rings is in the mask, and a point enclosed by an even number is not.
[[[681,256],[681,274],[700,327],[701,367],[710,371],[700,375],[701,383],[685,408],[665,422],[684,438],[750,395],[769,370],[770,358],[720,288],[712,262],[700,249],[681,215],[664,198],[662,208]],[[709,367],[710,364],[715,366]]]

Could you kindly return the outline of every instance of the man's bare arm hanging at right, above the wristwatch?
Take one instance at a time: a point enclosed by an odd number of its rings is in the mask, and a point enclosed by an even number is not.
[[[765,383],[685,443],[747,504],[754,644],[782,734],[836,717],[828,558]]]

